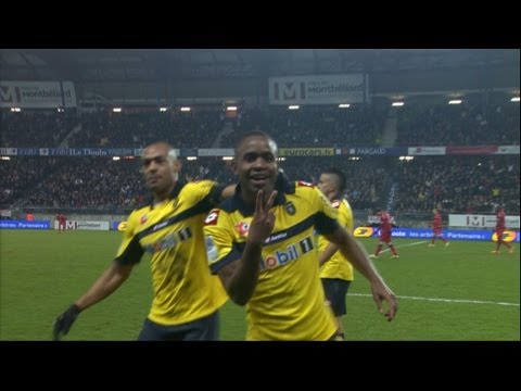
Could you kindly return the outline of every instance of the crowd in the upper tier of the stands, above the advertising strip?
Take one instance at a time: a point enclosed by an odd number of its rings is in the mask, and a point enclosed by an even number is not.
[[[396,109],[393,109],[396,110]],[[519,146],[519,103],[504,105],[407,104],[397,110],[395,146]],[[382,143],[386,106],[242,108],[234,131],[219,148],[232,148],[244,131],[269,129],[279,147],[376,147]],[[223,109],[192,112],[2,112],[0,147],[143,148],[155,140],[178,148],[212,148],[224,129]]]

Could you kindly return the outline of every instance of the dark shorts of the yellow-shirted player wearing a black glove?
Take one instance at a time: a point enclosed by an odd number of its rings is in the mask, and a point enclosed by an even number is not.
[[[217,341],[219,312],[187,324],[163,326],[144,319],[138,341]]]

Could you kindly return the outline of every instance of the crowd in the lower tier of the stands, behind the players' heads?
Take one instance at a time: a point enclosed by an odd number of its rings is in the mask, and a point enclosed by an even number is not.
[[[345,197],[355,210],[386,205],[389,188],[397,184],[395,211],[492,213],[503,204],[519,213],[519,156],[346,156],[291,157],[280,167],[292,179],[316,184],[320,172],[336,166],[347,176]],[[0,204],[23,206],[127,207],[147,202],[147,189],[139,174],[139,159],[24,157],[0,161]],[[220,157],[183,160],[181,179],[236,180]]]

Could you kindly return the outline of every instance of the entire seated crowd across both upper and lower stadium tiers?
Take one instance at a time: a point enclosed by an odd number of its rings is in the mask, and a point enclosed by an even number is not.
[[[406,105],[398,112],[396,146],[519,146],[519,104],[503,106]],[[386,110],[378,105],[348,109],[285,106],[241,110],[225,118],[223,110],[64,115],[64,113],[2,112],[1,148],[143,148],[166,140],[177,148],[213,148],[227,122],[232,133],[218,148],[233,148],[244,131],[267,130],[280,148],[378,146]],[[194,153],[195,154],[195,153]],[[347,175],[345,195],[353,209],[370,210],[389,201],[395,186],[396,211],[492,213],[504,204],[519,213],[519,155],[289,157],[280,167],[290,178],[316,182],[320,172],[338,166]],[[220,157],[183,160],[187,180],[234,180]],[[12,156],[0,161],[0,205],[135,207],[147,190],[139,159]]]

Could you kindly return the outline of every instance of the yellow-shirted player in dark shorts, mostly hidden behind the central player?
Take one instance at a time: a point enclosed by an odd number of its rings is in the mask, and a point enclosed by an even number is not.
[[[338,210],[339,224],[350,234],[353,232],[353,211],[346,199],[342,198],[345,188],[345,175],[339,168],[331,167],[322,172],[317,185],[318,189]],[[320,235],[318,237],[320,253],[320,279],[326,299],[336,317],[336,339],[345,339],[342,316],[346,314],[345,295],[353,281],[353,265],[338,251],[338,247]]]

